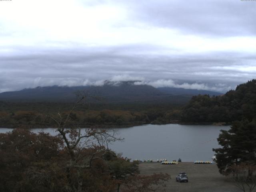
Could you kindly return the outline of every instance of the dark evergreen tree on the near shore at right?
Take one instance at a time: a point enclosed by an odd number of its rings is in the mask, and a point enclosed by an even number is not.
[[[218,143],[222,148],[213,151],[220,173],[229,174],[230,168],[241,162],[256,164],[256,120],[234,122],[230,130],[221,130]]]

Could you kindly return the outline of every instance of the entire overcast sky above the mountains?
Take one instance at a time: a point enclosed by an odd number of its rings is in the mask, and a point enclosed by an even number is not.
[[[141,80],[220,92],[256,78],[254,0],[0,0],[0,92]]]

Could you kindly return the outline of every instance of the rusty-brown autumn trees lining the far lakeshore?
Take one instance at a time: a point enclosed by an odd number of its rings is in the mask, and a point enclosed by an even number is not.
[[[67,112],[66,112],[67,113]],[[34,128],[53,127],[54,121],[47,118],[47,113],[37,111],[0,112],[0,127]],[[57,116],[57,115],[55,115]],[[150,120],[145,113],[120,110],[74,111],[71,118],[80,127],[114,127],[148,124]]]

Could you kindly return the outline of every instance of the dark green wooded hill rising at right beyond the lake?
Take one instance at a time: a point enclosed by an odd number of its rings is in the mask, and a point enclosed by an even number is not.
[[[233,122],[256,116],[256,80],[240,84],[222,96],[193,96],[182,110],[182,122]]]

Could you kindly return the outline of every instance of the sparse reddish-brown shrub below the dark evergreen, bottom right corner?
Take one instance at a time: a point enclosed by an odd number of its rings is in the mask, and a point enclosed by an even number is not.
[[[235,186],[243,192],[252,192],[256,187],[256,166],[254,164],[241,163],[231,167],[230,176]]]

